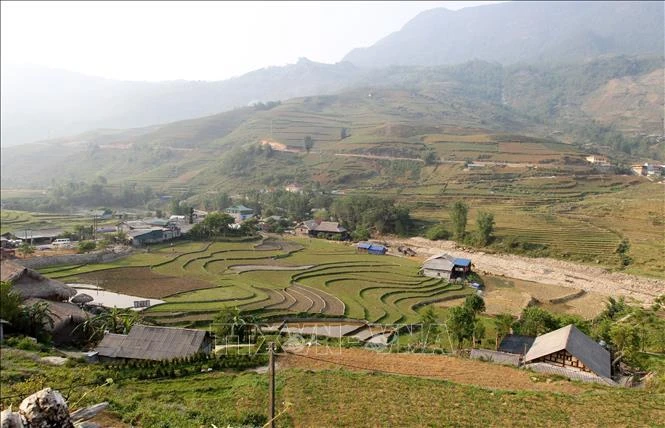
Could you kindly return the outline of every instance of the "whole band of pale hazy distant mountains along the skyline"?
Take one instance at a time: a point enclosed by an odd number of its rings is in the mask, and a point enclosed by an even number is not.
[[[215,114],[253,101],[399,85],[393,65],[480,59],[550,63],[597,55],[663,54],[663,3],[502,3],[424,12],[343,62],[301,59],[219,82],[123,82],[40,67],[2,72],[2,146],[98,128],[132,128]],[[374,70],[368,70],[372,68]],[[419,71],[414,69],[413,73]],[[398,77],[395,77],[398,76]],[[593,104],[598,105],[598,103]]]

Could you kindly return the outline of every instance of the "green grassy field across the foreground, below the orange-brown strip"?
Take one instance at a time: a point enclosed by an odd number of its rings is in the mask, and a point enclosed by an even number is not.
[[[16,405],[18,400],[4,397],[32,393],[42,385],[49,385],[67,395],[70,405],[78,403],[76,406],[81,407],[108,401],[109,408],[99,419],[105,426],[254,426],[265,423],[268,407],[265,374],[214,371],[179,379],[115,379],[109,386],[95,388],[77,385],[104,379],[106,375],[100,366],[76,363],[54,367],[36,360],[34,354],[3,349],[0,379],[4,406]],[[517,390],[487,388],[452,383],[443,380],[445,378],[343,368],[279,369],[277,407],[278,411],[287,406],[288,409],[278,419],[277,426],[618,427],[658,426],[665,420],[662,393],[584,385],[535,374],[530,378],[528,372],[509,367],[469,363],[473,367],[465,372],[469,376],[476,374],[473,383],[482,384],[477,374],[486,368],[510,372],[512,375],[509,373],[508,378],[524,378],[533,386]],[[454,372],[455,367],[457,365],[452,364],[448,368],[450,374],[462,375],[462,372]],[[424,391],[427,391],[426,399]]]

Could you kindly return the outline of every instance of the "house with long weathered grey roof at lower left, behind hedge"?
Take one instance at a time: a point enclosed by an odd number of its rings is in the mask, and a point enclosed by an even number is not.
[[[134,325],[129,334],[107,333],[95,351],[101,359],[173,360],[213,350],[209,332],[189,328]]]

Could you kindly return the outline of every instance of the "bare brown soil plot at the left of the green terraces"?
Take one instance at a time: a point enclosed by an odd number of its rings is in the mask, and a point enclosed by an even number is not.
[[[118,268],[76,275],[76,282],[95,284],[107,291],[160,299],[182,291],[210,288],[194,278],[160,275],[150,268]]]

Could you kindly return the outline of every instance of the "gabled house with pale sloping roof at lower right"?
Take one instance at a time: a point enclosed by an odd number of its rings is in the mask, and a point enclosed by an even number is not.
[[[544,363],[572,371],[590,372],[606,379],[612,376],[609,351],[573,324],[536,337],[524,356],[524,363],[527,367]]]

